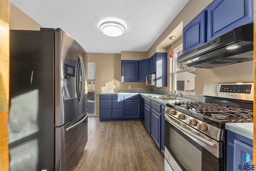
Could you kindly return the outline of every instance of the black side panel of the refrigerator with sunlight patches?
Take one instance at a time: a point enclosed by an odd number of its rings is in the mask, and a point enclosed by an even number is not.
[[[54,32],[10,30],[10,171],[54,170]]]

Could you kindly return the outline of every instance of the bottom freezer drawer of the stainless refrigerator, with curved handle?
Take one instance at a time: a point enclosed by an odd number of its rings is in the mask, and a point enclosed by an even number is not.
[[[62,127],[56,127],[55,132],[55,169],[70,171],[80,159],[87,142],[87,110],[78,118]]]

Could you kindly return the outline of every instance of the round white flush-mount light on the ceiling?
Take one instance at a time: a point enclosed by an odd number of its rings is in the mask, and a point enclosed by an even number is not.
[[[100,24],[100,31],[107,36],[121,36],[125,32],[125,27],[119,22],[107,21]]]

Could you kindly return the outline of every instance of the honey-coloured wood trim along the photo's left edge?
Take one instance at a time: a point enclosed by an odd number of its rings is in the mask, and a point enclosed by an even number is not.
[[[10,0],[0,0],[0,170],[9,170],[9,21]]]

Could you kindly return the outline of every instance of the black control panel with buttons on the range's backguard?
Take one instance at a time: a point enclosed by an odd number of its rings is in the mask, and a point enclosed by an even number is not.
[[[226,93],[246,93],[250,94],[252,89],[252,85],[221,85],[220,92]]]

